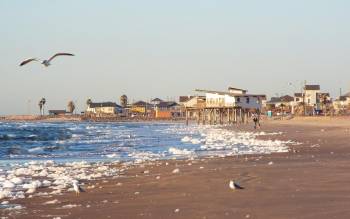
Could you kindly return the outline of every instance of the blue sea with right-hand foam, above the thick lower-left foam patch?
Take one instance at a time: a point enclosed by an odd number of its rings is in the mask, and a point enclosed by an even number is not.
[[[0,160],[135,160],[284,152],[262,132],[181,123],[1,122]],[[271,133],[270,133],[271,134]]]

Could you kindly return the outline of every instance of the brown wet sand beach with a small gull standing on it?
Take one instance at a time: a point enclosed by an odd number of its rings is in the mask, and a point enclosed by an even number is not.
[[[253,130],[251,124],[232,129]],[[282,131],[264,138],[303,144],[288,153],[139,165],[122,177],[85,182],[86,192],[79,196],[66,192],[16,200],[13,203],[25,209],[1,210],[1,214],[9,218],[350,218],[349,119],[269,121],[262,123],[260,131]],[[172,173],[174,169],[179,172]],[[230,190],[231,179],[245,189]],[[54,204],[43,204],[55,199]]]

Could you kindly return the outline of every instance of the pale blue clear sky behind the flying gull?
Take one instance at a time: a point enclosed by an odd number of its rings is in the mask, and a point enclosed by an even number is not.
[[[350,90],[350,1],[2,0],[0,115],[73,100],[177,100],[196,88]],[[59,57],[45,68],[31,57]]]

